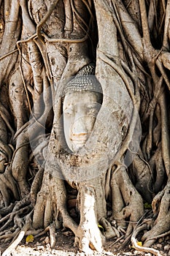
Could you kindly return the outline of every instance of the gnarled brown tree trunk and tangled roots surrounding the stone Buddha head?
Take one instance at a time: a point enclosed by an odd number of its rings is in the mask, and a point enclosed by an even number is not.
[[[4,255],[31,229],[54,246],[68,227],[87,254],[143,221],[144,246],[170,230],[169,18],[169,0],[0,1]],[[62,148],[61,96],[91,62],[104,97],[85,160]]]

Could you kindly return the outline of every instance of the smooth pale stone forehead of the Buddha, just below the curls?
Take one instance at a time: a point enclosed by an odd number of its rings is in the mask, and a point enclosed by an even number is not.
[[[67,105],[88,104],[98,102],[96,91],[72,91],[66,94],[63,100],[63,107]]]

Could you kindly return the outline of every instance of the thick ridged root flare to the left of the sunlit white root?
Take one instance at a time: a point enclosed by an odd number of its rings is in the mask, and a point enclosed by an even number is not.
[[[58,217],[60,216],[60,219]],[[74,233],[77,231],[77,224],[66,209],[66,187],[64,181],[52,176],[50,171],[45,171],[42,181],[42,188],[36,197],[34,206],[33,227],[47,227],[55,222],[58,228],[62,222],[64,227],[69,227]]]

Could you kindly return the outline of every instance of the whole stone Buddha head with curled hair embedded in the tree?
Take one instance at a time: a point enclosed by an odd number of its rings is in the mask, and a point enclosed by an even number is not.
[[[93,64],[83,67],[63,92],[63,131],[74,153],[85,146],[102,104],[102,89],[94,72]]]

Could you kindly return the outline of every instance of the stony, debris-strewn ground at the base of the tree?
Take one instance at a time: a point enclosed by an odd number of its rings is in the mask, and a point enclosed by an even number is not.
[[[138,252],[131,245],[120,249],[123,239],[115,244],[116,240],[109,240],[104,246],[104,252],[93,252],[93,255],[110,255],[110,256],[152,256],[150,253]],[[157,244],[152,248],[157,249],[162,256],[170,255],[170,237],[160,238]],[[0,243],[0,255],[7,249],[7,244]],[[50,248],[50,238],[45,234],[39,238],[35,238],[33,242],[26,244],[26,237],[20,242],[18,247],[12,251],[10,256],[85,256],[83,252],[79,252],[78,247],[74,247],[74,234],[69,230],[56,233],[56,244],[53,249]]]

